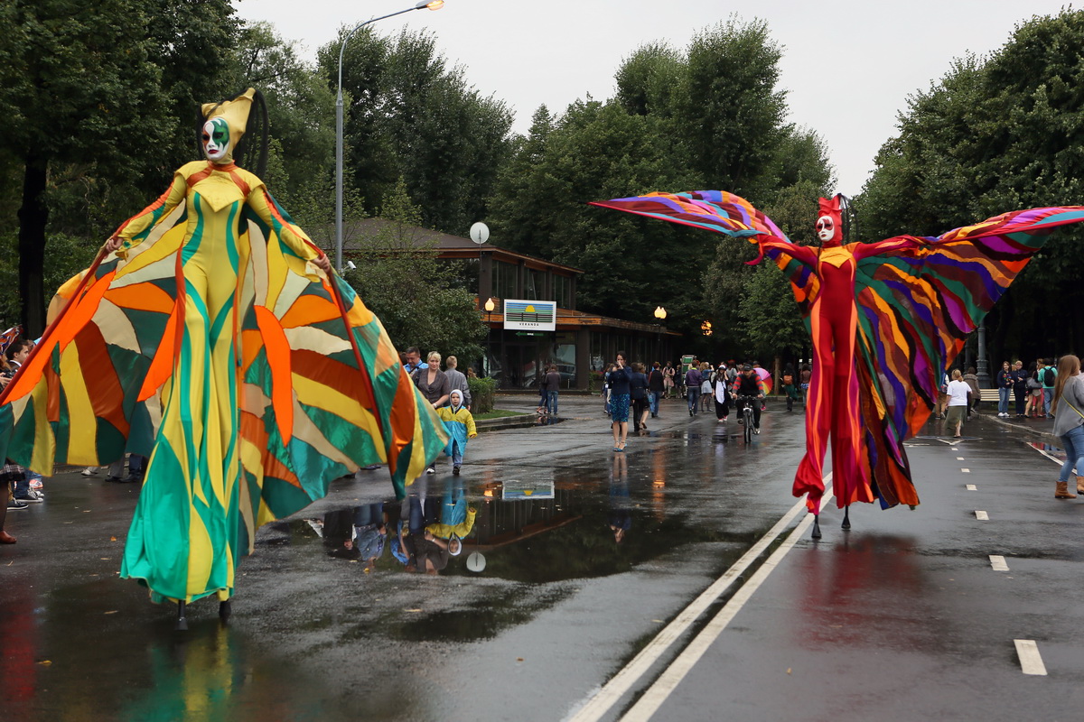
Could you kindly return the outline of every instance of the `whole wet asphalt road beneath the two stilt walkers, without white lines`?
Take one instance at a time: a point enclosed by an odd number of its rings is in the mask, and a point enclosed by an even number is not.
[[[229,627],[196,603],[186,633],[116,578],[138,488],[49,480],[44,503],[9,514],[20,542],[0,548],[0,719],[569,717],[791,508],[803,419],[773,406],[747,447],[733,417],[724,429],[670,402],[622,455],[597,399],[562,403],[567,421],[470,443],[460,478],[476,531],[439,576],[344,552],[351,508],[399,510],[386,472],[370,472],[267,525]],[[915,441],[918,511],[862,508],[848,534],[827,512],[825,538],[798,543],[653,719],[1080,719],[1064,713],[1084,701],[1071,612],[1084,508],[1054,502],[1057,468],[1018,434],[992,420],[972,432],[951,456]],[[438,472],[414,489],[430,503],[456,493],[447,461]],[[982,488],[965,491],[965,475]],[[991,521],[975,518],[982,507]],[[620,544],[615,522],[629,525]],[[1041,640],[1049,677],[1020,673],[1021,635]]]

